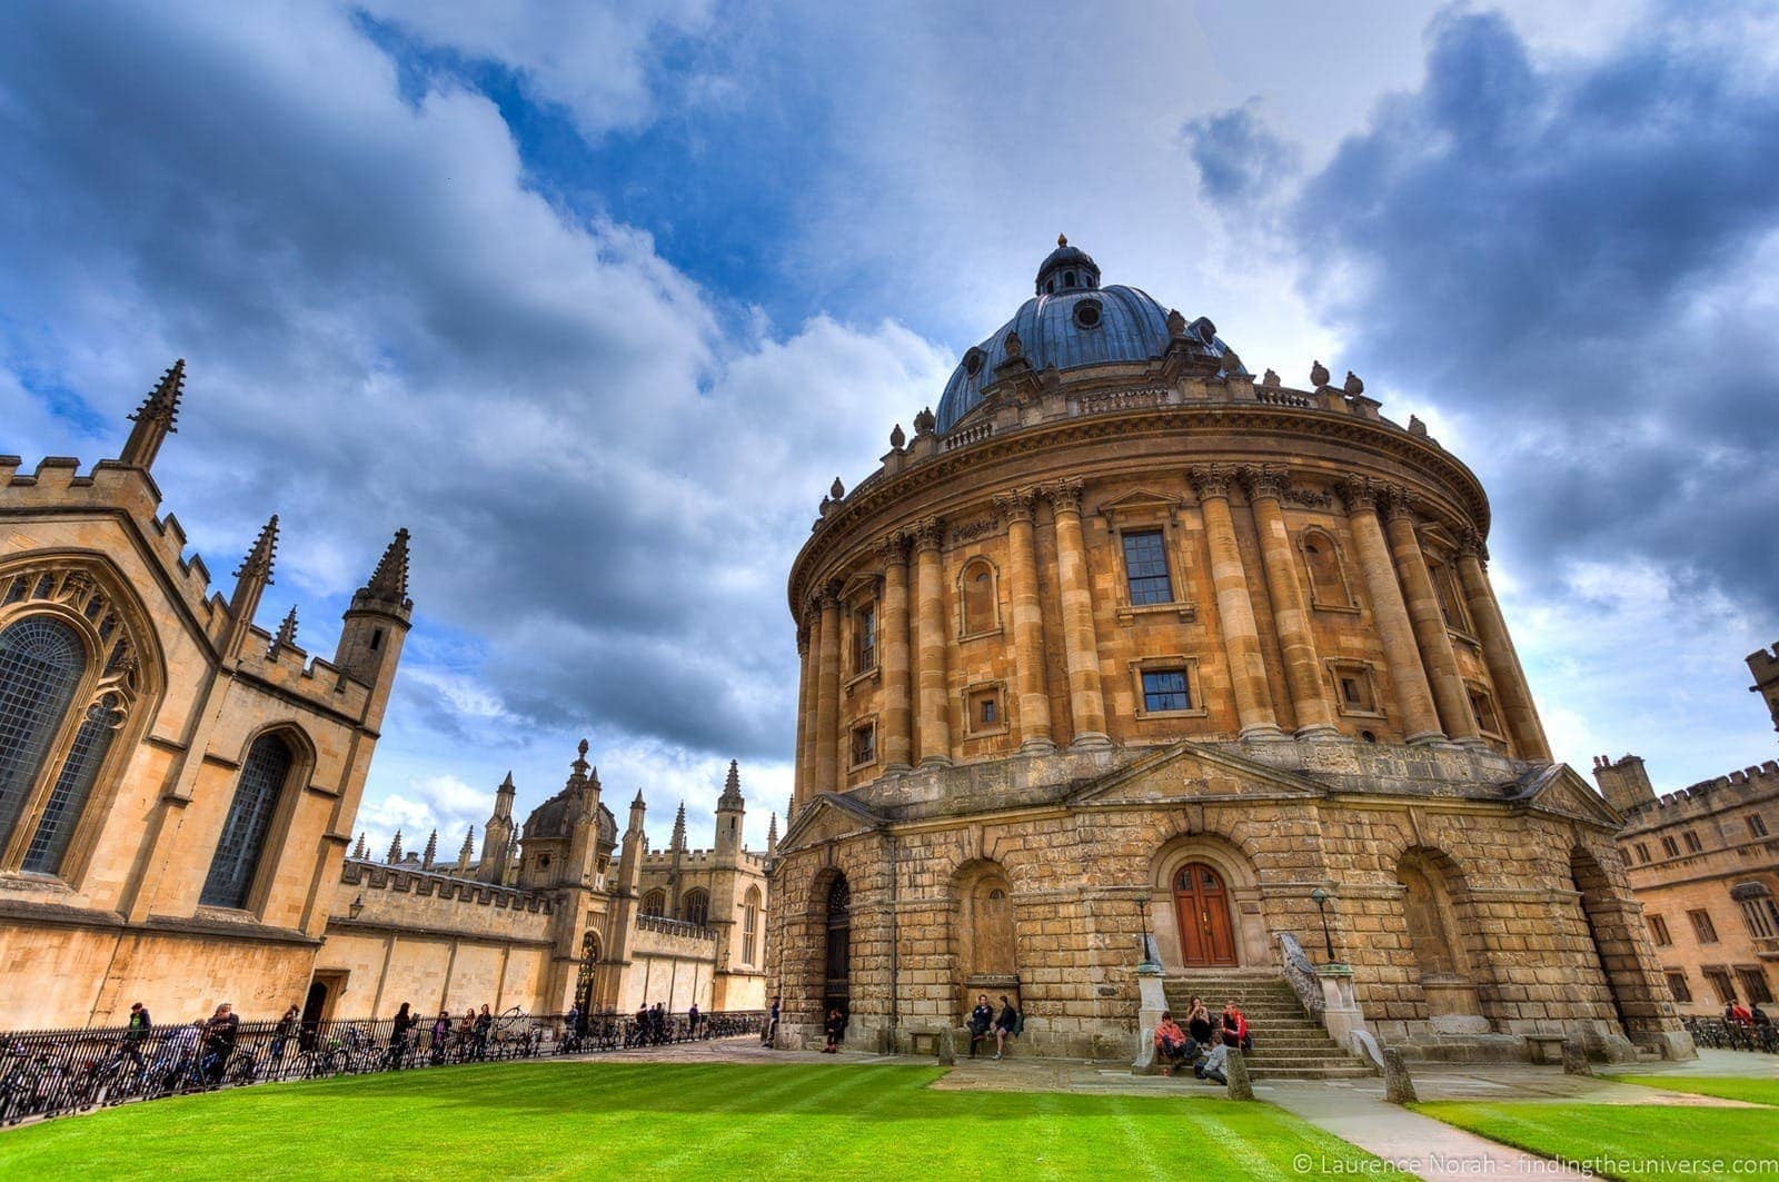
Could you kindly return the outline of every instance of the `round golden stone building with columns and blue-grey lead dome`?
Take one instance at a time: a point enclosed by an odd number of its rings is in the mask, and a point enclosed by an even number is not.
[[[792,568],[786,1036],[925,1048],[1007,993],[1021,1048],[1128,1056],[1155,961],[1176,1006],[1300,999],[1336,1057],[1688,1054],[1469,468],[1066,240],[1035,288]]]

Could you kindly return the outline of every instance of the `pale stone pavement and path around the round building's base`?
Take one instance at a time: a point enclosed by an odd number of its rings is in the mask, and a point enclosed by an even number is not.
[[[769,1050],[754,1040],[681,1043],[653,1050],[624,1050],[601,1059],[649,1059],[662,1063],[824,1063],[936,1066],[927,1056],[841,1054],[815,1050]],[[1621,1084],[1610,1075],[1564,1075],[1557,1066],[1528,1065],[1423,1065],[1411,1068],[1421,1100],[1523,1100],[1589,1104],[1674,1104],[1701,1107],[1751,1107],[1738,1100],[1695,1097]],[[1635,1063],[1621,1073],[1656,1075],[1745,1075],[1779,1079],[1779,1056],[1735,1050],[1701,1050],[1688,1063]],[[1220,1097],[1222,1088],[1190,1073],[1131,1075],[1130,1068],[1082,1059],[1009,1057],[959,1059],[932,1084],[939,1091],[1069,1091],[1076,1095]],[[1553,1161],[1487,1141],[1462,1129],[1384,1102],[1384,1081],[1260,1081],[1254,1098],[1277,1104],[1325,1132],[1395,1164],[1397,1173],[1423,1178],[1585,1178]]]

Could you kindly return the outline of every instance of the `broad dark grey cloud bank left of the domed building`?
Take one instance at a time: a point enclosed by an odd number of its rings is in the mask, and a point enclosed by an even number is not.
[[[834,456],[934,379],[918,340],[724,322],[646,235],[530,190],[491,101],[404,96],[331,7],[11,7],[0,144],[0,368],[89,399],[91,461],[187,356],[167,507],[199,543],[281,511],[286,587],[338,596],[407,525],[423,625],[479,655],[391,717],[785,757],[783,573]]]

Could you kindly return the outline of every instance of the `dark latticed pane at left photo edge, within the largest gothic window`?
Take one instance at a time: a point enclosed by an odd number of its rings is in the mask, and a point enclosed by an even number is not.
[[[12,837],[87,668],[80,636],[52,616],[0,632],[0,846]]]

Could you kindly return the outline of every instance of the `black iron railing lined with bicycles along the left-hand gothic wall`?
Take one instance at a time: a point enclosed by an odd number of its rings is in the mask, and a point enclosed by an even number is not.
[[[758,1036],[763,1022],[760,1011],[726,1011],[699,1015],[696,1027],[683,1013],[658,1024],[614,1013],[571,1024],[562,1015],[509,1009],[486,1022],[454,1016],[438,1025],[422,1018],[400,1034],[393,1018],[242,1022],[233,1041],[210,1036],[203,1024],[146,1034],[117,1027],[12,1031],[0,1034],[0,1123],[213,1088]]]

